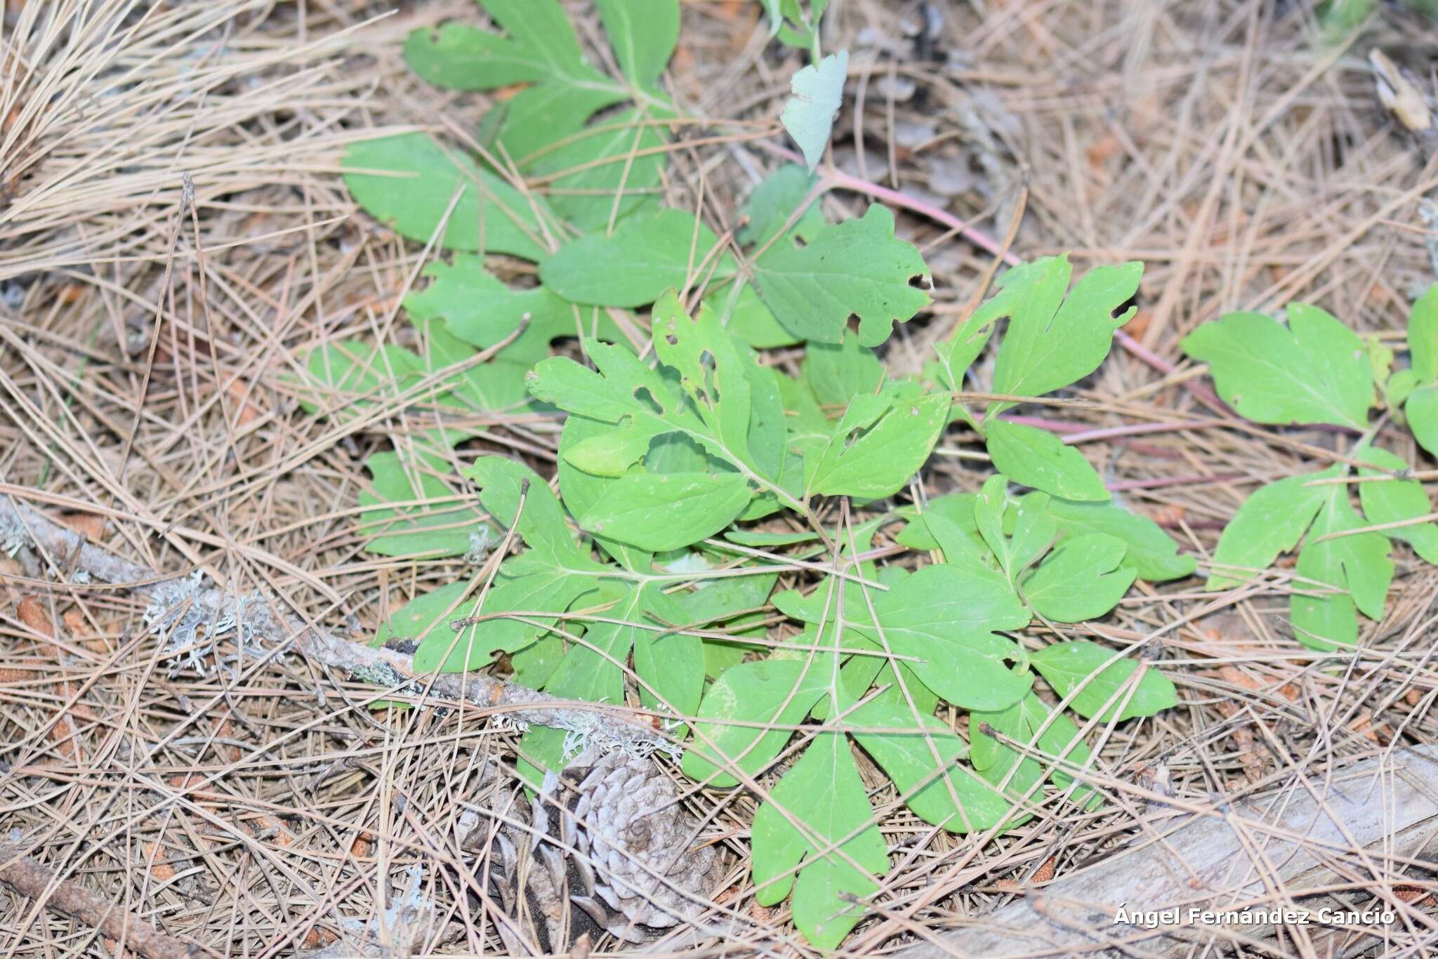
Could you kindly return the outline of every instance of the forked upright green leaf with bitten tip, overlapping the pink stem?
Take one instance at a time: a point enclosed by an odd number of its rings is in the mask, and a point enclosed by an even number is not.
[[[1117,313],[1139,289],[1143,265],[1094,267],[1063,298],[1068,276],[1068,260],[1060,256],[1037,260],[1012,280],[1005,277],[1004,286],[1014,295],[1008,303],[1008,329],[994,362],[994,393],[1040,397],[1083,380],[1109,355],[1113,331],[1137,309],[1130,306]],[[1012,401],[991,403],[989,414],[1011,405]]]

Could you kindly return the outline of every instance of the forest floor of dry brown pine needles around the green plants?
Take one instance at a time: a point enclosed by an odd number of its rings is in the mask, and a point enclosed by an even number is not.
[[[99,23],[145,4],[55,6]],[[490,98],[436,91],[401,59],[411,30],[473,22],[475,4],[400,3],[390,16],[395,4],[358,0],[157,6],[162,19],[119,45],[42,49],[22,29],[24,68],[0,70],[0,495],[157,579],[203,571],[362,641],[462,565],[364,552],[361,463],[411,424],[403,408],[344,424],[311,416],[296,375],[325,342],[403,336],[398,302],[427,254],[357,213],[339,157],[377,132],[475,128]],[[584,36],[592,10],[569,6]],[[6,4],[7,33],[24,9]],[[1350,441],[1235,428],[1204,405],[1206,381],[1178,342],[1227,311],[1288,300],[1402,341],[1409,303],[1438,270],[1438,155],[1379,104],[1368,50],[1426,78],[1438,24],[1385,4],[1333,40],[1307,4],[1268,0],[835,0],[828,30],[827,47],[853,58],[831,161],[869,188],[824,203],[837,219],[897,194],[900,234],[933,273],[935,305],[883,352],[892,370],[919,368],[969,308],[994,266],[985,246],[1067,252],[1080,270],[1140,259],[1122,348],[1074,391],[1083,403],[1035,414],[1078,434],[1123,505],[1202,558],[1257,485]],[[715,124],[676,145],[667,188],[690,207],[702,196],[716,233],[779,162],[765,144],[789,145],[777,118],[801,65],[768,43],[759,3],[684,1],[667,83]],[[127,72],[104,92],[104,122],[75,109],[85,83]],[[702,137],[718,148],[690,142]],[[945,217],[991,243],[956,236]],[[466,454],[552,462],[552,423],[483,426]],[[976,489],[979,473],[943,449],[929,489]],[[453,487],[469,495],[457,473]],[[1286,633],[1277,587],[1218,601],[1192,578],[1130,594],[1106,628],[1168,627],[1159,656],[1182,706],[1106,730],[1097,774],[1116,795],[1221,809],[1432,742],[1438,571],[1406,546],[1395,559],[1386,617],[1337,670]],[[460,799],[476,801],[476,771],[512,756],[508,725],[365,709],[372,687],[278,647],[230,670],[175,660],[145,628],[142,595],[75,578],[73,562],[29,546],[0,555],[0,843],[171,936],[247,956],[326,946],[345,920],[391,904],[414,861],[452,861],[446,824]],[[693,802],[713,808],[703,792]],[[873,955],[919,927],[982,922],[1024,883],[1135,835],[1145,808],[1113,802],[986,843],[896,811],[880,825],[903,854],[846,949]],[[749,811],[732,804],[715,820],[733,863],[715,897],[752,920],[745,950],[802,953],[787,907],[752,901]],[[1416,900],[1422,919],[1322,949],[1428,953],[1428,868],[1438,861],[1379,863],[1349,890],[1353,901]],[[452,874],[426,876],[449,922],[416,950],[500,949],[492,916]],[[0,955],[114,947],[0,884]],[[1323,955],[1301,932],[1270,947]]]

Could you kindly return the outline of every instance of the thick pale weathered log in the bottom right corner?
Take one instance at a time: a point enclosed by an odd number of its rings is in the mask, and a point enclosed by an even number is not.
[[[1438,845],[1438,746],[1418,746],[1362,759],[1332,779],[1311,775],[1290,788],[1179,815],[1150,837],[978,917],[936,943],[894,953],[930,956],[1188,956],[1353,955],[1383,945],[1385,926],[1333,919],[1324,907],[1395,913],[1393,929],[1438,926],[1405,907],[1395,878],[1405,864],[1428,860]],[[1422,868],[1422,867],[1421,867]],[[1432,864],[1428,864],[1432,868]],[[1346,894],[1343,890],[1350,890]],[[1178,922],[1155,929],[1114,922],[1129,913],[1178,910]],[[1189,920],[1189,909],[1221,916]],[[1307,910],[1309,923],[1278,927],[1261,922],[1274,910]],[[1303,940],[1307,943],[1300,947]],[[1267,940],[1267,942],[1264,942]],[[1247,952],[1244,955],[1248,955]]]

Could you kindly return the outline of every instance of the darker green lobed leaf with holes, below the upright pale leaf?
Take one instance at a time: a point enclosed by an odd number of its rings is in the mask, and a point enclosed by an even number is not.
[[[825,226],[812,242],[781,240],[752,265],[759,298],[802,339],[843,341],[858,316],[858,342],[877,347],[929,305],[929,270],[894,237],[894,216],[873,204],[861,219]]]

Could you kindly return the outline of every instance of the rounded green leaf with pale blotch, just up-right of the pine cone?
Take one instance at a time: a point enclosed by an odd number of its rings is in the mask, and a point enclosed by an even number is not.
[[[699,706],[684,775],[718,789],[738,785],[733,769],[755,775],[779,755],[828,682],[801,660],[758,660],[728,670]]]

